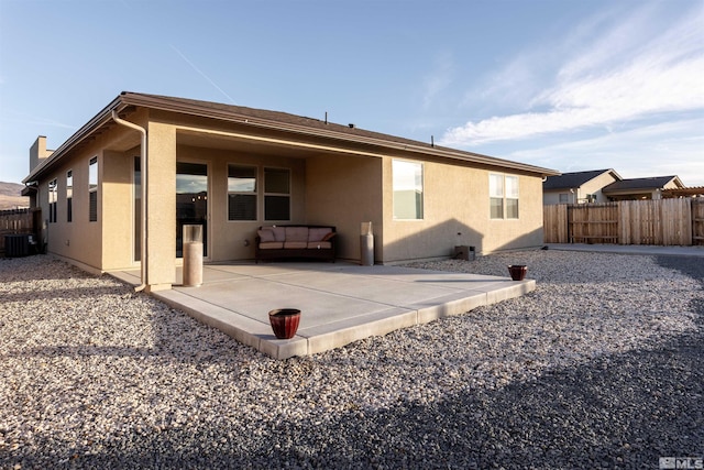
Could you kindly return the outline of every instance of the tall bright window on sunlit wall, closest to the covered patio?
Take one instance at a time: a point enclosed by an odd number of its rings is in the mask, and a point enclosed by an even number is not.
[[[422,164],[392,161],[394,219],[422,219]]]

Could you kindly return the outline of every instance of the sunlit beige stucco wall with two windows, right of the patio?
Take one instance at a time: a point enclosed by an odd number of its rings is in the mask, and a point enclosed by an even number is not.
[[[394,220],[392,159],[384,160],[383,261],[449,256],[455,245],[477,253],[538,247],[542,243],[542,181],[519,176],[519,218],[490,219],[488,175],[442,162],[424,163],[424,219]]]

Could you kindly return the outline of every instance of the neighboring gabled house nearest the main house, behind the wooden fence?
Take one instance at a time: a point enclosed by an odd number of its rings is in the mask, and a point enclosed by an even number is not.
[[[602,188],[622,177],[614,170],[562,173],[542,183],[542,204],[606,203]]]

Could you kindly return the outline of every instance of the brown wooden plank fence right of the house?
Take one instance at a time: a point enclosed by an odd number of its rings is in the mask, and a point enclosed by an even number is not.
[[[546,243],[704,244],[704,199],[543,207]]]

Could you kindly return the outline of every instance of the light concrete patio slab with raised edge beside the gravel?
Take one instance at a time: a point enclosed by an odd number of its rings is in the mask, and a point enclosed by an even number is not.
[[[111,273],[140,284],[140,271]],[[211,263],[198,287],[152,295],[274,359],[315,354],[370,336],[460,315],[535,289],[532,280],[349,263]],[[268,311],[301,310],[292,339],[277,339]]]

